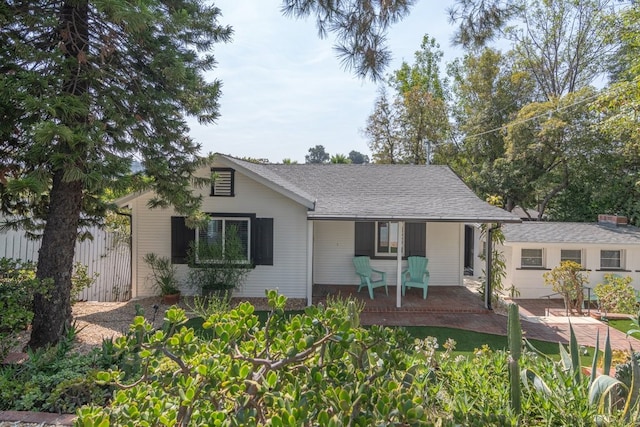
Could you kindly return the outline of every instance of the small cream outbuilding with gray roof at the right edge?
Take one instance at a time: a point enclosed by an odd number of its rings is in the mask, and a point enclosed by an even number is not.
[[[543,274],[562,261],[575,261],[588,273],[589,288],[606,273],[630,276],[640,289],[640,229],[625,217],[600,215],[597,223],[525,221],[504,224],[505,288],[519,298],[553,294]]]

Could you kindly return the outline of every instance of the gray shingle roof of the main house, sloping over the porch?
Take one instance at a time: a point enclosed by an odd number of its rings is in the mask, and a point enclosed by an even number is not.
[[[315,200],[309,218],[519,221],[480,200],[447,166],[276,165],[228,159],[279,188]]]

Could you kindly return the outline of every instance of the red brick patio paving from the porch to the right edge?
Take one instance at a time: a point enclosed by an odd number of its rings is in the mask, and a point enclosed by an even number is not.
[[[426,300],[420,289],[409,289],[396,308],[396,288],[375,289],[371,300],[366,289],[357,292],[357,286],[314,286],[314,304],[323,302],[328,295],[351,296],[365,303],[360,316],[363,325],[386,326],[444,326],[488,334],[506,335],[507,317],[499,310],[484,308],[480,295],[465,286],[432,286]],[[603,348],[608,326],[589,316],[566,317],[562,300],[515,300],[520,306],[521,325],[526,338],[541,341],[569,343],[569,322],[573,325],[580,345],[595,347],[596,334],[600,334]],[[549,316],[546,316],[549,314]],[[640,341],[627,338],[615,329],[609,330],[611,347],[616,350],[640,349]]]

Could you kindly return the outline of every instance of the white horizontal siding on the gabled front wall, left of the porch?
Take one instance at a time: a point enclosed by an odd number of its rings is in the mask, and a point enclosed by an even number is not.
[[[201,171],[206,176],[210,169]],[[258,265],[234,296],[264,297],[265,289],[277,288],[289,298],[306,297],[306,208],[293,202],[266,186],[236,172],[235,197],[211,197],[209,188],[199,191],[203,196],[202,210],[216,214],[246,213],[258,218],[273,218],[274,265]],[[149,269],[142,261],[148,252],[159,256],[171,256],[171,216],[173,209],[148,209],[146,204],[152,196],[144,195],[134,200],[134,296],[155,295],[148,280]],[[186,283],[188,267],[178,266],[181,289],[193,294],[196,289]]]

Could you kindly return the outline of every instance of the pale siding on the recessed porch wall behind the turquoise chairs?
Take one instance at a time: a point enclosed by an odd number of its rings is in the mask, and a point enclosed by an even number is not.
[[[462,285],[464,226],[457,223],[427,223],[426,241],[429,258],[429,286]],[[355,223],[316,221],[314,223],[313,282],[323,285],[359,284],[353,269]],[[387,284],[397,283],[395,259],[372,259],[371,266],[387,273]],[[406,267],[403,261],[402,268]]]

